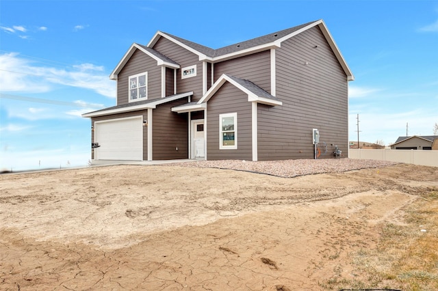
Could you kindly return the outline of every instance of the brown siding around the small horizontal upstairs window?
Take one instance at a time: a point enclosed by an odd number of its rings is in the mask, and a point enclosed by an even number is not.
[[[177,70],[177,93],[193,91],[192,101],[201,99],[203,94],[203,64],[199,61],[198,55],[166,38],[160,38],[153,48],[181,66]],[[193,65],[196,65],[196,77],[181,79],[181,69]]]

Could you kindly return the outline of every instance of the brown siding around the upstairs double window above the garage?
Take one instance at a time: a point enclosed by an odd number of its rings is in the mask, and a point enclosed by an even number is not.
[[[129,102],[129,76],[148,72],[148,99],[162,96],[162,68],[157,61],[142,51],[136,50],[117,77],[117,105]]]

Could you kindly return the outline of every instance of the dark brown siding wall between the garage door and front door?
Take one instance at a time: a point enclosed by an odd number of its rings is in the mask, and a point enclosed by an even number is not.
[[[183,98],[153,109],[153,160],[188,158],[188,113],[171,111],[186,102]]]

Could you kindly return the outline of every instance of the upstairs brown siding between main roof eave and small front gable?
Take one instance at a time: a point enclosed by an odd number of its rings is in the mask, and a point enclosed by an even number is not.
[[[214,64],[214,80],[218,80],[222,74],[231,74],[235,77],[250,80],[266,92],[270,92],[270,51]]]

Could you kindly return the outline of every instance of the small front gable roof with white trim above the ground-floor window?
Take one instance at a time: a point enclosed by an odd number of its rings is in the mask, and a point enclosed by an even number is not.
[[[231,76],[229,74],[222,74],[222,76],[220,76],[218,81],[216,81],[214,83],[214,85],[211,86],[211,88],[205,93],[203,98],[201,98],[198,101],[198,104],[208,102],[208,100],[211,97],[213,97],[214,94],[216,92],[218,92],[218,89],[220,89],[220,87],[222,87],[222,85],[224,85],[224,83],[226,83],[226,82],[231,83],[232,85],[234,85],[238,89],[242,90],[242,92],[245,92],[246,94],[248,94],[248,101],[249,102],[255,101],[258,103],[263,103],[263,104],[272,105],[272,106],[283,105],[283,102],[281,102],[281,100],[279,98],[272,96],[271,94],[269,94],[265,90],[261,89],[261,87],[255,85],[255,83],[248,81],[248,80],[245,80],[245,79],[240,79],[240,78]]]

